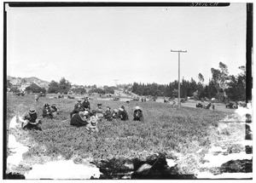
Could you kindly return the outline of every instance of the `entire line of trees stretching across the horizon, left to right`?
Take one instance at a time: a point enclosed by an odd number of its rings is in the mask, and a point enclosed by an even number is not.
[[[195,82],[194,78],[190,81],[182,79],[181,81],[181,97],[187,98],[193,96],[195,99],[217,98],[219,101],[225,100],[246,100],[246,68],[240,66],[241,72],[234,76],[229,75],[228,66],[219,62],[218,69],[212,68],[212,78],[205,83],[205,79],[201,73],[198,75],[199,82]],[[89,87],[89,86],[88,86]],[[8,81],[7,88],[14,91],[14,87]],[[85,94],[85,87],[77,85],[72,89],[71,83],[64,77],[61,77],[60,82],[51,81],[49,83],[49,94],[63,93],[67,94],[70,91],[78,94]],[[175,80],[168,84],[157,83],[133,83],[119,85],[118,88],[124,89],[126,92],[132,92],[139,95],[166,96],[177,97],[178,82]],[[114,94],[115,87],[104,86],[103,89],[97,88],[96,85],[91,85],[89,93],[98,94]],[[46,92],[46,89],[40,88],[36,83],[32,83],[26,88],[26,92]]]

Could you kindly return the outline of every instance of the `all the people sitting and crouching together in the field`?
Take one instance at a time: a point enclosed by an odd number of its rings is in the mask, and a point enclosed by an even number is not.
[[[59,114],[59,109],[55,104],[49,105],[48,103],[44,104],[43,117],[52,119]],[[78,100],[78,103],[75,104],[74,109],[70,112],[70,124],[73,126],[81,127],[85,126],[85,129],[89,133],[98,132],[97,123],[102,122],[102,119],[107,121],[113,121],[113,119],[120,119],[121,121],[129,120],[128,113],[125,110],[125,106],[121,106],[119,109],[113,109],[107,106],[106,111],[102,109],[102,104],[97,104],[96,110],[91,110],[90,102],[88,97],[84,97],[84,101]],[[144,121],[143,111],[139,106],[135,107],[133,112],[134,121]],[[22,122],[22,129],[39,129],[39,123],[42,123],[41,120],[38,120],[38,114],[34,107],[30,108],[25,112],[20,118]]]

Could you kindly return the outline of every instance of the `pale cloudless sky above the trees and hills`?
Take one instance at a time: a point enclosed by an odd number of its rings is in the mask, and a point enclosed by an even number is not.
[[[246,64],[246,3],[229,7],[10,8],[7,74],[114,85],[207,81],[221,61]]]

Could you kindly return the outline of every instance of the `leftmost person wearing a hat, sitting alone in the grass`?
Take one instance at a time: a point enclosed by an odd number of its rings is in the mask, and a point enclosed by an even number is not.
[[[22,129],[38,129],[42,130],[38,124],[41,120],[38,119],[38,114],[34,107],[31,107],[28,111],[24,112],[21,116],[21,128]]]

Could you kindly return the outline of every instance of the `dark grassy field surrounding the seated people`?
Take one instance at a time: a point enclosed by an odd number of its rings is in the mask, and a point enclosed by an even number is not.
[[[24,131],[12,129],[20,142],[31,146],[24,154],[31,161],[38,157],[73,157],[93,158],[95,161],[111,158],[134,158],[152,155],[156,152],[172,152],[183,154],[195,153],[201,147],[209,146],[211,133],[209,128],[218,128],[218,121],[226,116],[226,112],[182,106],[181,109],[169,104],[154,101],[137,102],[113,100],[90,100],[92,109],[97,103],[119,108],[125,106],[129,114],[128,121],[98,123],[99,133],[88,134],[85,129],[70,126],[69,112],[76,104],[75,99],[40,98],[36,106],[38,118],[42,118],[44,103],[56,104],[61,112],[55,119],[44,119],[42,131]],[[141,106],[145,122],[134,122],[132,114],[135,106]],[[23,97],[8,94],[7,123],[15,115],[34,106],[33,95]],[[8,125],[9,127],[9,125]],[[29,139],[29,140],[28,140]]]

